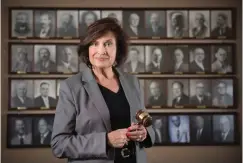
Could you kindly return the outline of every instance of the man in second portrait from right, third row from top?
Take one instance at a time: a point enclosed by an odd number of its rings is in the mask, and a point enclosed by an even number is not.
[[[193,106],[211,106],[211,96],[206,92],[203,82],[198,81],[195,84],[195,95],[190,98],[190,104]]]

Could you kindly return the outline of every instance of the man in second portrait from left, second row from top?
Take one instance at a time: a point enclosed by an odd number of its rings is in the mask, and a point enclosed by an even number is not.
[[[55,72],[56,62],[51,60],[51,52],[48,48],[42,47],[38,51],[39,60],[35,65],[37,72]]]

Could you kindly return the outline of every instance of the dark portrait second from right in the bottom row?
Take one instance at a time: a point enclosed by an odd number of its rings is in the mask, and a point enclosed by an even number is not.
[[[212,141],[212,121],[210,115],[191,115],[190,116],[190,133],[191,143],[209,144]]]

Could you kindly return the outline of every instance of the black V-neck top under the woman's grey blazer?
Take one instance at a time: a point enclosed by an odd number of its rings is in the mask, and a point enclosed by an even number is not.
[[[98,85],[100,87],[101,93],[104,97],[104,100],[110,112],[112,131],[130,127],[131,126],[130,106],[126,99],[121,84],[119,83],[119,90],[117,93],[109,90],[108,88],[100,84]],[[133,149],[135,151],[135,145],[134,142],[132,141],[129,141],[126,147],[128,147],[129,149]],[[121,149],[116,148],[115,163],[136,163],[136,161],[134,160],[134,158],[122,159]]]

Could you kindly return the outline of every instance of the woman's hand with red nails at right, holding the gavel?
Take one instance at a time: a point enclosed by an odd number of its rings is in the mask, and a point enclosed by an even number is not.
[[[142,142],[147,137],[147,130],[143,125],[132,123],[128,128],[127,137],[130,140]]]

